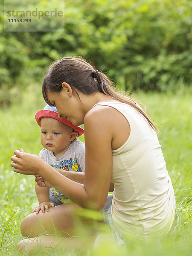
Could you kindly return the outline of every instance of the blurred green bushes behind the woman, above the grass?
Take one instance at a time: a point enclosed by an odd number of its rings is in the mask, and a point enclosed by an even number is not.
[[[190,0],[65,0],[64,32],[3,32],[3,2],[1,106],[19,101],[29,85],[41,84],[49,64],[66,55],[90,60],[122,90],[175,91],[190,85]]]

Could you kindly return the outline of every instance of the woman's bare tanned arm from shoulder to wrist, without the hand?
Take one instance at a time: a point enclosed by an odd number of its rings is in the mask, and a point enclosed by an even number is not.
[[[106,113],[92,111],[84,119],[85,180],[84,185],[62,178],[50,177],[51,183],[73,202],[85,208],[102,209],[111,184],[112,149],[110,122]],[[51,175],[47,172],[47,180]],[[48,180],[49,181],[49,180]]]

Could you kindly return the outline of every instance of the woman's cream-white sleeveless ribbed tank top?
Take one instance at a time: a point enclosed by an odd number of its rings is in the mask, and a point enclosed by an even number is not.
[[[175,217],[175,195],[156,132],[141,113],[121,102],[99,102],[128,120],[128,140],[113,150],[111,214],[125,235],[165,235]]]

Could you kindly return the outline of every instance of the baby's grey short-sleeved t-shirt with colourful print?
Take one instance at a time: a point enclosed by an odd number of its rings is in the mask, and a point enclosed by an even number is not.
[[[84,172],[85,163],[85,144],[78,139],[71,142],[67,151],[60,158],[56,158],[52,151],[43,148],[39,157],[51,166],[63,169],[65,171]],[[72,201],[58,191],[58,189],[50,188],[52,193],[62,203],[71,203]]]

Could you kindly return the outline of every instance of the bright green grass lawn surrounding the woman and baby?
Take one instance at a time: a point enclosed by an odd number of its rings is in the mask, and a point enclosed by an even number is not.
[[[180,224],[176,232],[160,242],[131,238],[124,250],[105,244],[97,256],[113,255],[190,255],[191,246],[191,181],[192,181],[192,93],[184,89],[173,93],[137,92],[137,99],[147,105],[147,113],[157,125],[167,170],[175,189]],[[0,255],[18,255],[15,244],[20,241],[20,223],[37,204],[34,177],[15,174],[10,157],[16,146],[38,154],[41,150],[40,129],[35,113],[44,107],[39,94],[32,91],[10,108],[0,110]],[[150,110],[150,111],[149,111]],[[83,140],[83,138],[81,138]],[[38,254],[37,254],[38,255]],[[79,255],[77,252],[52,252],[48,255]],[[83,253],[82,255],[89,255]],[[92,255],[92,254],[91,254]]]

